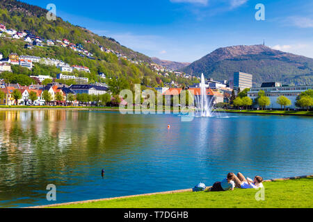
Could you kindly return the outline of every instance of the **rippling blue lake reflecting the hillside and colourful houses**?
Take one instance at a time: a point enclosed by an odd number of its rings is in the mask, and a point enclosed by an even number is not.
[[[227,115],[0,111],[0,207],[209,186],[231,171],[313,173],[312,117]],[[56,201],[46,199],[48,184]]]

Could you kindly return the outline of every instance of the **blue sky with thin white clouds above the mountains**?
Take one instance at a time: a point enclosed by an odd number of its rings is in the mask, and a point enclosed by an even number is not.
[[[313,1],[309,0],[24,0],[56,5],[64,20],[113,37],[135,51],[193,62],[223,46],[262,44],[313,58]],[[265,6],[265,21],[255,6]]]

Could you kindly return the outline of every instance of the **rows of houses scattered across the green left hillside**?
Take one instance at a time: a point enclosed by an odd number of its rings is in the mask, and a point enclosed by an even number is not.
[[[95,57],[93,57],[93,53],[90,51],[84,49],[83,45],[80,43],[72,43],[70,40],[62,39],[62,40],[45,40],[45,37],[41,37],[38,35],[33,35],[31,31],[15,31],[12,28],[7,28],[4,24],[0,24],[0,37],[6,37],[8,39],[13,40],[21,40],[25,42],[24,48],[25,49],[33,49],[33,47],[49,47],[49,46],[61,46],[63,48],[70,49],[74,52],[77,52],[79,56],[82,58],[88,58],[90,60],[95,60]],[[97,44],[97,42],[92,40],[85,40],[86,43],[93,43]],[[112,53],[113,55],[117,56],[118,60],[127,60],[131,63],[134,63],[136,65],[147,65],[152,71],[155,71],[157,75],[168,77],[170,74],[175,74],[176,77],[179,78],[196,78],[194,76],[184,74],[182,71],[175,71],[172,69],[167,69],[166,67],[162,67],[161,65],[157,65],[154,63],[146,64],[142,60],[133,60],[131,58],[128,58],[127,56],[123,55],[122,53],[118,51],[113,51],[112,49],[105,48],[102,45],[97,44],[99,46],[99,49],[104,53]],[[100,59],[98,59],[100,60]],[[60,69],[61,73],[72,73],[72,71],[86,71],[90,73],[90,69],[88,67],[83,67],[79,65],[69,65],[62,60],[58,60],[55,58],[40,58],[38,56],[28,56],[28,55],[17,55],[16,53],[12,52],[10,53],[10,56],[8,58],[3,58],[2,53],[0,52],[0,72],[1,71],[11,71],[10,65],[19,65],[22,67],[26,67],[28,69],[33,68],[33,63],[39,62],[43,65],[48,66],[55,66],[58,69]],[[63,75],[63,77],[66,75]],[[99,73],[100,78],[105,79],[106,75],[103,73]],[[31,76],[32,78],[36,78],[36,76]],[[43,76],[37,76],[36,80],[42,79]],[[50,76],[47,76],[47,78],[51,78]],[[71,77],[68,77],[66,79],[69,79]],[[74,77],[73,77],[74,78]],[[81,77],[80,77],[81,78]],[[77,82],[81,83],[81,79],[74,78],[77,80]],[[200,79],[200,78],[198,78]],[[84,82],[88,83],[88,79],[85,78]],[[38,82],[40,83],[40,82]],[[172,87],[179,87],[179,83],[175,82],[174,80],[163,83],[165,86],[172,86]]]

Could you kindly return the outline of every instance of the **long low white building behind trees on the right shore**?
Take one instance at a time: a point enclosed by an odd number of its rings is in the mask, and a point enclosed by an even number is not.
[[[248,96],[253,101],[257,102],[257,96],[260,90],[265,92],[265,95],[271,100],[271,105],[268,108],[280,109],[280,105],[277,103],[279,96],[286,96],[290,101],[291,105],[288,108],[296,108],[296,97],[301,93],[305,92],[307,89],[313,89],[313,85],[305,86],[280,86],[280,87],[253,87],[248,92]]]

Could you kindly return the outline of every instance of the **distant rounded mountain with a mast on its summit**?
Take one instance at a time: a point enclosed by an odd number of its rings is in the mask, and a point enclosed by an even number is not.
[[[264,45],[228,46],[216,49],[184,69],[187,74],[228,80],[235,71],[253,75],[253,84],[280,81],[289,85],[313,84],[313,59]]]

